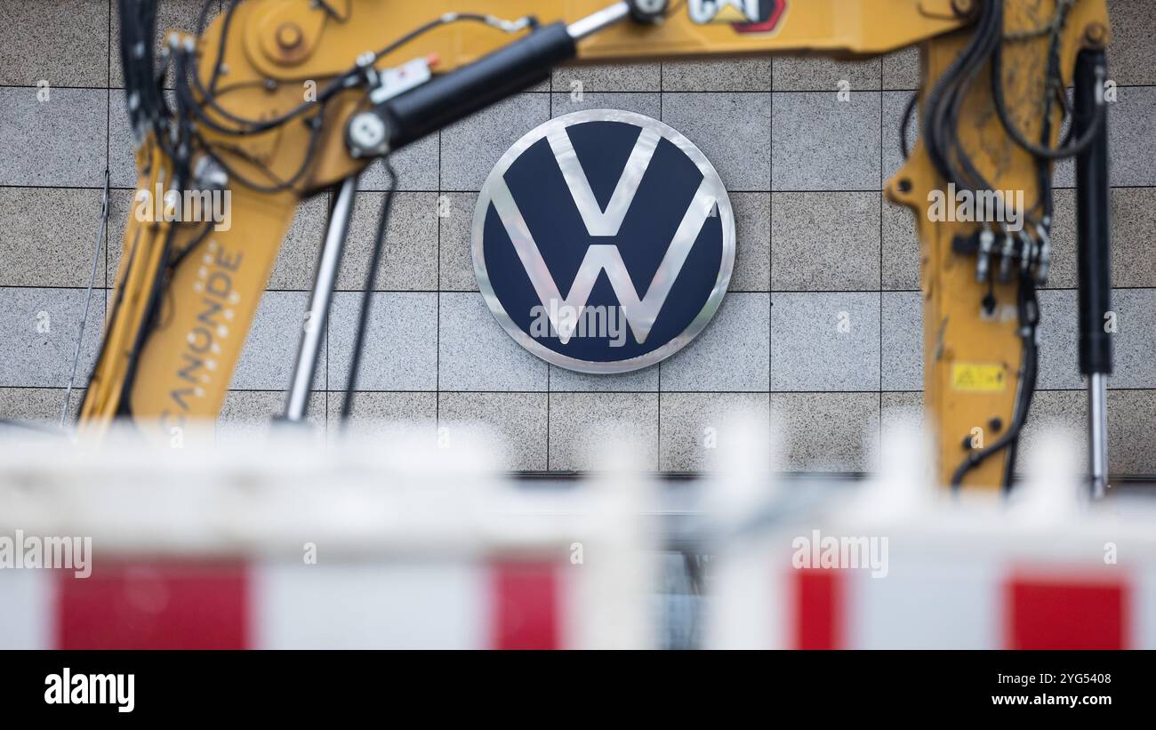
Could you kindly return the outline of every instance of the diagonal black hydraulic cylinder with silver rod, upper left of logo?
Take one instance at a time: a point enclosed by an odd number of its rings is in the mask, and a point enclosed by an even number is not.
[[[550,70],[577,55],[577,42],[608,25],[635,16],[628,2],[616,2],[569,25],[562,22],[535,28],[529,35],[497,51],[437,76],[405,94],[375,105],[350,120],[350,129],[378,128],[381,134],[348,134],[355,156],[384,155],[464,119],[490,104],[549,77]],[[362,119],[358,119],[362,117]],[[361,143],[361,139],[368,143]]]

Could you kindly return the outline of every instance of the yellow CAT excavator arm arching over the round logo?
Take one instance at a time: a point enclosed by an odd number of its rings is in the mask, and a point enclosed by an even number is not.
[[[228,6],[229,3],[227,3]],[[1065,106],[1048,88],[1058,60],[1060,92],[1074,82],[1077,53],[1109,40],[1105,0],[1006,0],[1000,3],[999,47],[1006,114],[1040,144],[1060,143]],[[608,0],[251,0],[227,9],[194,38],[173,36],[171,55],[195,44],[191,98],[203,102],[192,139],[215,151],[227,167],[222,191],[231,195],[231,223],[195,225],[164,219],[129,221],[116,295],[98,362],[81,411],[81,430],[98,435],[116,417],[133,419],[150,438],[168,440],[173,427],[213,418],[222,407],[261,293],[297,202],[356,174],[370,157],[350,154],[347,125],[371,109],[362,79],[414,59],[427,59],[435,79],[469,73],[472,65],[561,21],[577,40],[572,62],[749,54],[882,54],[921,49],[920,118],[953,67],[968,60],[987,22],[984,0],[673,0],[614,3]],[[605,13],[638,15],[661,7],[660,22],[600,24]],[[1055,18],[1066,10],[1062,27]],[[499,23],[444,22],[446,14],[498,16]],[[538,27],[510,21],[533,16]],[[446,18],[443,18],[446,20]],[[395,50],[387,44],[410,29],[436,23]],[[583,25],[586,23],[586,25]],[[588,32],[587,32],[588,31]],[[377,55],[366,53],[385,50]],[[353,76],[358,68],[362,75]],[[368,61],[366,61],[368,59]],[[178,68],[179,70],[179,68]],[[542,73],[548,73],[543,68]],[[986,80],[985,66],[979,77]],[[326,91],[336,83],[332,94]],[[325,104],[317,102],[325,96]],[[403,97],[399,97],[403,98]],[[1036,206],[1042,188],[1036,156],[1009,135],[996,113],[993,88],[977,81],[948,113],[956,148],[993,191],[1022,192]],[[310,104],[313,107],[310,107]],[[291,124],[269,124],[238,135],[218,131],[244,120],[276,120],[309,111]],[[178,104],[179,106],[179,104]],[[316,112],[316,113],[314,113]],[[452,121],[453,119],[450,119]],[[431,121],[430,124],[442,124]],[[1045,126],[1046,125],[1046,126]],[[181,170],[169,140],[140,129],[140,191],[168,189],[197,174],[201,157]],[[1046,143],[1045,143],[1046,140]],[[977,277],[980,249],[966,249],[980,228],[938,215],[936,192],[948,189],[940,161],[922,128],[910,156],[884,185],[888,198],[916,216],[924,307],[924,382],[927,416],[938,433],[943,483],[969,456],[976,429],[991,441],[1011,427],[1024,382],[1023,323],[1017,316],[1020,280]],[[203,156],[202,156],[203,157]],[[203,169],[202,169],[203,171]],[[216,170],[216,172],[222,172]],[[289,185],[279,185],[288,181]],[[246,184],[247,182],[247,184]],[[178,191],[179,192],[179,191]],[[995,231],[995,245],[1005,236]],[[1029,231],[1031,233],[1031,231]],[[993,304],[994,303],[994,304]],[[302,327],[316,326],[306,321]],[[1009,449],[1008,449],[1009,450]],[[1007,454],[973,464],[966,485],[996,486]]]

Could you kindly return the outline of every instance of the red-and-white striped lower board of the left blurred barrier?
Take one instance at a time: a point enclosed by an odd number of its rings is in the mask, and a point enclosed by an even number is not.
[[[98,559],[89,578],[0,571],[0,647],[579,647],[573,579],[583,567],[517,558],[326,566]]]

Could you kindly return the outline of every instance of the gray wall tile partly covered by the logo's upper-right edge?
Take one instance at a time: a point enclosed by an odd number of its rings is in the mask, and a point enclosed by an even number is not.
[[[769,189],[770,94],[664,94],[662,121],[706,155],[727,191]]]

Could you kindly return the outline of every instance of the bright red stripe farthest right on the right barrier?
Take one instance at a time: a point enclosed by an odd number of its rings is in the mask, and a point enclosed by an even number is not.
[[[1005,586],[1009,649],[1122,649],[1127,586],[1079,578],[1014,576]]]

